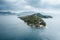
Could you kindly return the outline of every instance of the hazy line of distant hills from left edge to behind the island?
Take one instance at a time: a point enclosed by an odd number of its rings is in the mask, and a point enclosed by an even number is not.
[[[21,13],[12,13],[8,11],[8,12],[0,12],[0,15],[18,15],[18,16],[36,15],[41,18],[52,18],[52,16],[42,15],[41,13],[34,13],[33,11],[21,12]]]

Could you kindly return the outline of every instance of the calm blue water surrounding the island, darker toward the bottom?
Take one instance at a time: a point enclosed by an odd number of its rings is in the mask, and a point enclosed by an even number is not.
[[[59,18],[44,20],[45,29],[34,29],[15,15],[0,15],[0,40],[60,40]]]

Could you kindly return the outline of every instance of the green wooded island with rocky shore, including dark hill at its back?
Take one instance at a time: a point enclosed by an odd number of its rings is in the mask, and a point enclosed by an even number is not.
[[[34,28],[43,28],[46,26],[46,22],[42,18],[52,18],[52,16],[45,16],[40,13],[35,13],[32,15],[18,17],[27,23],[28,26]]]

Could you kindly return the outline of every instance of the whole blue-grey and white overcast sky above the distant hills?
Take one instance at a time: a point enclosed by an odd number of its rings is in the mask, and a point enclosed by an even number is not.
[[[60,14],[60,0],[0,0],[0,10]]]

